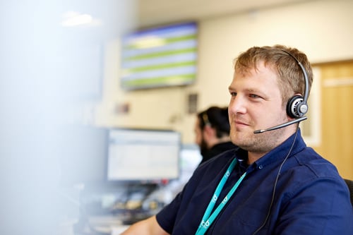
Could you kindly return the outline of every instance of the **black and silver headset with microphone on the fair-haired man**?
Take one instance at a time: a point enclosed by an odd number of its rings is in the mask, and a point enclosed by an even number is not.
[[[303,72],[304,76],[304,82],[305,82],[305,88],[304,88],[304,96],[301,95],[294,95],[291,97],[288,102],[287,102],[287,114],[288,116],[292,117],[294,120],[292,121],[287,121],[285,123],[282,123],[277,126],[273,126],[270,128],[266,129],[261,129],[261,130],[256,130],[253,133],[258,134],[258,133],[263,133],[265,131],[273,131],[277,130],[279,128],[283,128],[289,125],[292,125],[294,123],[299,123],[300,121],[304,121],[305,119],[308,119],[307,116],[304,116],[308,112],[308,96],[309,96],[309,78],[308,78],[308,73],[306,73],[306,70],[304,66],[300,63],[300,61],[290,54],[289,52],[281,49],[282,52],[285,52],[285,54],[288,54],[291,56],[295,61],[297,61],[297,64],[300,66],[301,71]]]

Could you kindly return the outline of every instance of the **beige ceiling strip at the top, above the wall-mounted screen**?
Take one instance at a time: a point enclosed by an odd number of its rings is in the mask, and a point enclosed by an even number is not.
[[[201,20],[301,1],[308,0],[138,0],[138,26]]]

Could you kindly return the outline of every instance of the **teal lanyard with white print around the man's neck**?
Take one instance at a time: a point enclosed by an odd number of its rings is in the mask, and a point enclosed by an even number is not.
[[[215,204],[217,202],[218,197],[220,196],[220,193],[225,186],[225,182],[227,182],[227,179],[229,178],[231,172],[233,171],[235,165],[237,164],[237,159],[234,158],[232,163],[229,165],[227,171],[225,172],[225,175],[222,177],[220,183],[218,183],[218,186],[215,190],[215,193],[213,194],[212,199],[210,200],[210,203],[208,204],[208,207],[205,211],[205,214],[203,215],[203,218],[201,220],[200,225],[198,226],[198,231],[196,231],[195,235],[202,235],[205,234],[207,229],[210,227],[210,225],[215,221],[215,218],[217,217],[218,214],[220,214],[220,211],[222,210],[223,207],[227,204],[229,198],[232,197],[233,193],[237,190],[239,184],[241,181],[243,181],[244,177],[246,176],[246,172],[240,177],[240,179],[237,181],[237,183],[234,184],[232,189],[229,191],[229,193],[223,198],[222,203],[218,205],[218,207],[215,209],[215,211],[212,213],[213,207],[215,207]]]

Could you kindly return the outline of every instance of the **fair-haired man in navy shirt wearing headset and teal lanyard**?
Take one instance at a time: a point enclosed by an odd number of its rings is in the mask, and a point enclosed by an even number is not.
[[[239,149],[202,164],[172,203],[123,234],[353,234],[345,181],[298,127],[313,80],[306,55],[251,47],[234,68],[229,121]]]

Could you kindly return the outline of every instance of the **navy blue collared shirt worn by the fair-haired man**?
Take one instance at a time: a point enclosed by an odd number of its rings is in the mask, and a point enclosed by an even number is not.
[[[247,175],[206,234],[253,234],[265,222],[257,234],[352,235],[353,209],[347,185],[333,164],[306,147],[300,130],[273,196],[280,165],[294,136],[250,166],[246,165],[247,152],[241,149],[201,164],[183,191],[157,214],[157,222],[169,234],[195,234],[215,188],[236,157],[238,164],[217,204],[245,171]]]

